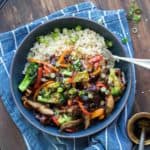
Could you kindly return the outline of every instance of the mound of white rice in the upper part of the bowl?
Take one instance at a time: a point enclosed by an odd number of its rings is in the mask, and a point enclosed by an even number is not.
[[[83,55],[94,56],[101,54],[106,49],[104,37],[90,29],[80,31],[70,30],[71,33],[59,33],[57,39],[53,39],[50,35],[43,36],[48,43],[36,42],[30,49],[28,57],[40,60],[47,60],[50,55],[60,55],[64,50],[70,49],[79,51]],[[69,43],[70,38],[77,36],[78,39],[74,43]]]

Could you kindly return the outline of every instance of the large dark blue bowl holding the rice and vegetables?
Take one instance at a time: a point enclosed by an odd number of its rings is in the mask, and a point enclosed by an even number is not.
[[[105,27],[92,22],[87,19],[82,18],[76,18],[76,17],[67,17],[67,18],[60,18],[56,20],[49,21],[45,24],[40,25],[36,29],[34,29],[22,42],[22,44],[19,46],[15,57],[13,59],[13,63],[11,66],[11,92],[14,98],[14,101],[20,110],[21,114],[31,123],[34,127],[37,129],[59,137],[65,137],[65,138],[80,138],[84,136],[88,136],[91,134],[94,134],[98,131],[101,131],[102,129],[106,128],[108,125],[110,125],[113,120],[120,114],[122,109],[124,108],[129,91],[131,88],[131,67],[127,63],[119,62],[116,64],[117,67],[121,68],[122,71],[125,73],[125,78],[127,81],[126,89],[124,93],[122,94],[122,97],[118,102],[115,104],[115,108],[113,112],[103,121],[98,121],[94,125],[91,125],[86,130],[81,130],[75,133],[61,133],[59,130],[55,127],[51,126],[44,126],[42,125],[38,120],[35,119],[35,116],[33,115],[32,111],[27,110],[21,101],[21,93],[18,90],[18,84],[23,78],[22,70],[24,69],[25,63],[26,63],[26,57],[30,50],[30,48],[33,46],[33,43],[36,41],[36,37],[40,35],[44,35],[49,33],[50,31],[53,31],[55,27],[58,28],[74,28],[77,25],[81,25],[83,28],[90,28],[94,30],[95,32],[102,35],[104,38],[111,40],[113,42],[113,48],[111,49],[112,53],[119,56],[128,56],[128,53],[124,50],[123,46],[119,42],[119,40]]]

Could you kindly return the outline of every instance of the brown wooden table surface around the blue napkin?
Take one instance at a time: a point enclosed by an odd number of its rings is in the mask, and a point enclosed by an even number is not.
[[[129,0],[92,0],[98,8],[127,9]],[[9,31],[55,10],[83,0],[8,0],[0,10],[0,32]],[[150,1],[137,0],[142,9],[142,21],[138,24],[138,34],[132,33],[135,57],[150,58]],[[130,27],[132,25],[130,24]],[[150,112],[150,72],[137,67],[137,92],[134,110]],[[0,149],[26,149],[22,137],[0,101]]]

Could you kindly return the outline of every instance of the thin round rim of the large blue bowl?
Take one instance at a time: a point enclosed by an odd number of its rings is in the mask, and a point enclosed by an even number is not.
[[[46,129],[43,129],[41,128],[39,125],[37,125],[35,122],[32,122],[32,120],[27,117],[25,115],[25,113],[23,112],[23,110],[20,108],[18,102],[17,102],[17,99],[15,97],[15,94],[14,94],[14,91],[13,91],[13,83],[12,83],[12,73],[13,73],[13,67],[15,65],[14,61],[17,57],[17,53],[18,51],[20,51],[21,49],[21,46],[23,45],[23,43],[31,36],[31,34],[33,34],[34,32],[36,32],[39,28],[42,28],[43,26],[46,26],[47,24],[50,24],[51,22],[54,22],[54,21],[57,21],[57,20],[64,20],[64,19],[79,19],[79,20],[83,20],[83,21],[87,21],[87,22],[91,22],[91,23],[94,23],[98,26],[101,26],[101,28],[103,28],[104,30],[107,30],[107,32],[109,32],[109,34],[115,38],[117,40],[117,42],[120,44],[120,47],[121,49],[123,49],[123,51],[125,52],[125,55],[128,55],[128,52],[125,51],[125,48],[123,47],[122,43],[119,41],[118,37],[116,35],[114,35],[109,29],[107,29],[106,27],[104,27],[103,25],[93,21],[93,20],[90,20],[90,19],[85,19],[85,18],[82,18],[82,17],[75,17],[75,16],[67,16],[67,17],[60,17],[60,18],[55,18],[55,19],[52,19],[52,20],[49,20],[49,21],[46,21],[45,23],[43,24],[40,24],[38,25],[37,27],[35,27],[28,35],[26,35],[26,37],[22,40],[22,42],[20,43],[20,45],[18,46],[17,50],[16,50],[16,53],[13,57],[13,60],[12,60],[12,63],[11,63],[11,67],[10,67],[10,88],[11,88],[11,94],[13,96],[13,100],[18,108],[18,110],[20,111],[20,113],[22,114],[22,116],[33,126],[35,127],[36,129],[42,131],[43,133],[47,133],[49,135],[53,135],[53,136],[56,136],[56,137],[61,137],[61,138],[67,138],[67,139],[72,139],[72,138],[82,138],[82,137],[86,137],[86,136],[90,136],[90,135],[93,135],[99,131],[102,131],[103,129],[105,129],[108,125],[110,125],[118,116],[119,114],[121,113],[121,111],[123,110],[123,108],[125,107],[125,104],[127,103],[127,100],[128,100],[128,96],[129,96],[129,93],[130,93],[130,89],[131,89],[131,77],[128,81],[128,88],[126,88],[126,95],[124,97],[124,101],[120,107],[120,109],[114,114],[111,116],[111,118],[105,123],[105,125],[103,125],[103,127],[97,129],[97,130],[92,130],[91,132],[88,132],[88,133],[85,133],[85,134],[82,134],[82,135],[65,135],[65,134],[58,134],[58,133],[54,133],[54,132],[50,132],[50,131],[47,131]],[[130,56],[129,56],[130,57]],[[129,65],[129,69],[128,69],[129,73],[131,74],[132,72],[132,67],[131,65]],[[107,119],[107,118],[106,118]]]

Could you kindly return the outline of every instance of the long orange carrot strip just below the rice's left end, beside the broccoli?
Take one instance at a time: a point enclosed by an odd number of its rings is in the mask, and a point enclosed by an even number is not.
[[[46,65],[46,66],[50,67],[52,70],[54,70],[55,72],[59,71],[56,67],[54,67],[52,64],[50,64],[50,63],[48,63],[46,61],[42,61],[42,60],[34,59],[34,58],[28,58],[28,61],[29,62],[34,62],[34,63]]]

